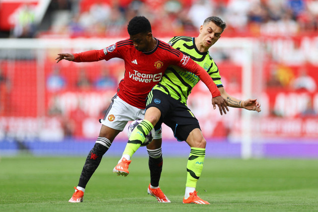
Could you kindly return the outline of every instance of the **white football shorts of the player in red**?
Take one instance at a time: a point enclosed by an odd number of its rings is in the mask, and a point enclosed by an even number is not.
[[[111,103],[100,123],[115,130],[123,131],[129,121],[145,118],[145,109],[134,107],[117,94],[111,99]],[[156,131],[154,139],[161,139],[161,129]]]

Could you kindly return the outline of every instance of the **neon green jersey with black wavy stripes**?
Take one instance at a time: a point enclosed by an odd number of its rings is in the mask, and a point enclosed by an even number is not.
[[[210,57],[209,52],[199,52],[195,46],[194,38],[176,36],[171,38],[169,44],[173,48],[181,51],[184,55],[189,56],[194,62],[207,71],[218,87],[223,86],[217,65]],[[177,66],[169,66],[163,74],[161,81],[155,85],[153,89],[160,90],[186,105],[192,88],[199,80],[199,77],[194,73],[185,71]]]

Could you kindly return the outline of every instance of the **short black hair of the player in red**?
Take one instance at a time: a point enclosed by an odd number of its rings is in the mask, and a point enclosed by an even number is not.
[[[136,35],[138,33],[149,33],[151,32],[151,24],[145,16],[133,17],[127,26],[129,35]]]

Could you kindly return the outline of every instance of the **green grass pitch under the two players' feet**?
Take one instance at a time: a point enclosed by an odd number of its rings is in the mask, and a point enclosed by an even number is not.
[[[0,158],[0,211],[318,211],[318,160],[206,158],[198,195],[211,205],[182,204],[187,158],[165,157],[160,187],[171,203],[147,194],[148,158],[135,157],[127,177],[105,155],[84,202],[68,203],[85,157]]]

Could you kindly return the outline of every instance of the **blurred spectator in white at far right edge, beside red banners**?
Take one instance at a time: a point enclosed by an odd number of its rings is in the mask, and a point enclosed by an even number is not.
[[[313,77],[308,75],[304,68],[299,71],[299,76],[293,81],[293,88],[296,90],[305,89],[309,92],[316,91],[317,85]]]

